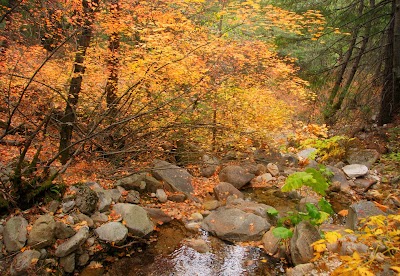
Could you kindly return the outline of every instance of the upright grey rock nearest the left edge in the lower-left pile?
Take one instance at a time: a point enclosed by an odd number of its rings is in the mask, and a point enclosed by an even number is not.
[[[4,227],[3,239],[8,252],[19,251],[25,246],[28,222],[23,217],[10,218]]]

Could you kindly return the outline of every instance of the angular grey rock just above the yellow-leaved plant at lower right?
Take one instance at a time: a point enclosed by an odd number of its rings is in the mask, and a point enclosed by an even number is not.
[[[347,215],[346,227],[356,230],[360,220],[371,216],[386,215],[371,201],[360,201],[354,203],[349,208]]]

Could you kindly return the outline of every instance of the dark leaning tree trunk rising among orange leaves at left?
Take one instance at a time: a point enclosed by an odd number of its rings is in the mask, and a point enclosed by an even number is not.
[[[79,93],[82,87],[82,77],[85,73],[85,56],[86,50],[90,45],[93,35],[92,24],[94,21],[95,9],[98,6],[98,0],[82,0],[82,31],[78,36],[78,48],[75,54],[74,74],[72,76],[67,105],[64,110],[64,116],[61,119],[60,129],[60,161],[62,164],[67,163],[70,157],[70,146],[72,139],[72,131],[76,121],[76,105],[78,104]]]

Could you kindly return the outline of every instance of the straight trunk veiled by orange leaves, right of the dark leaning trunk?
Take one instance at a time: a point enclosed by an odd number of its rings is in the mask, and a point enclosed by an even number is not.
[[[111,20],[113,26],[118,28],[119,20],[119,0],[112,0],[110,5]],[[110,115],[115,114],[117,105],[117,92],[118,92],[118,71],[119,71],[119,33],[115,31],[111,33],[108,42],[108,70],[109,75],[106,84],[107,108],[110,110]]]

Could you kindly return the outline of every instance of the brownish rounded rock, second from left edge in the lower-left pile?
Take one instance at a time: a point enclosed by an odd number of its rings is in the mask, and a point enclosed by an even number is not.
[[[28,245],[34,249],[41,249],[52,245],[55,239],[56,222],[53,216],[40,216],[29,233]]]

